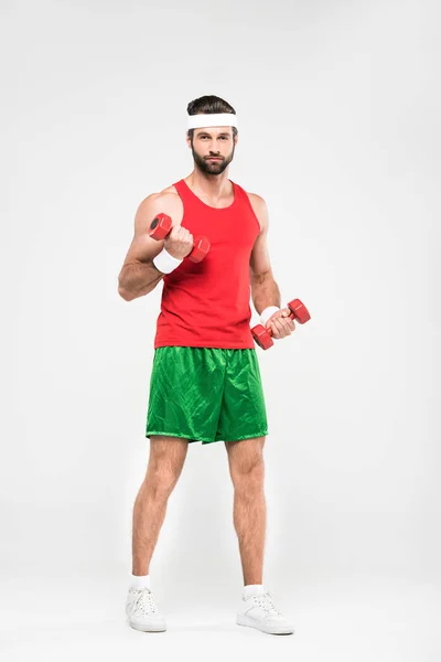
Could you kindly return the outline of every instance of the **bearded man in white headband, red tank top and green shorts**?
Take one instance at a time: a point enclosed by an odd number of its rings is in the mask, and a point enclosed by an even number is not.
[[[126,301],[151,292],[163,279],[161,312],[146,437],[150,457],[133,508],[132,576],[126,611],[131,627],[165,630],[151,591],[149,565],[166,503],[189,444],[225,442],[234,484],[234,525],[244,576],[237,624],[268,633],[292,633],[263,589],[266,526],[262,450],[267,416],[249,321],[249,298],[272,338],[294,331],[280,309],[267,249],[268,213],[262,197],[228,179],[238,141],[235,109],[216,96],[187,106],[189,177],[146,197],[119,274]],[[162,241],[149,236],[159,213],[172,218]],[[185,259],[197,235],[211,243],[206,257]]]

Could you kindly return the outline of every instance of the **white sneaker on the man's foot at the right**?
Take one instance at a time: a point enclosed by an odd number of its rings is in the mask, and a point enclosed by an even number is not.
[[[267,590],[259,596],[251,596],[241,601],[236,623],[256,628],[267,634],[293,634],[294,628],[272,601],[271,594]]]

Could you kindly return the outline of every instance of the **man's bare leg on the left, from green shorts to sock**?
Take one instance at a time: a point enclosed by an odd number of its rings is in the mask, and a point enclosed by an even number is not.
[[[132,574],[148,575],[166,503],[184,466],[187,439],[152,436],[146,478],[133,506]]]

